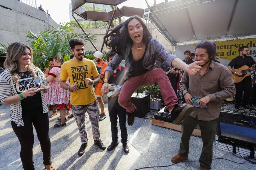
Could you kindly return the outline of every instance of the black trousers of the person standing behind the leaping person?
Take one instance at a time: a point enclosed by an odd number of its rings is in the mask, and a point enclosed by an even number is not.
[[[110,98],[110,97],[109,97]],[[112,103],[112,102],[110,102]],[[118,141],[118,131],[117,131],[117,117],[119,118],[119,126],[121,130],[121,143],[127,143],[127,128],[126,128],[126,111],[122,108],[118,101],[116,100],[113,104],[108,104],[109,118],[111,123],[111,135],[112,141]]]

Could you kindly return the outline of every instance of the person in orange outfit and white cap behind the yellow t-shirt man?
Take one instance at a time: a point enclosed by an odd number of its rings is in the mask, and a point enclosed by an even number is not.
[[[93,55],[94,55],[94,60],[96,61],[95,64],[96,64],[98,73],[100,74],[99,75],[100,82],[102,82],[103,77],[104,77],[104,71],[107,67],[107,63],[104,62],[102,59],[102,52],[96,51]],[[100,105],[100,110],[101,110],[99,121],[102,121],[103,119],[106,118],[106,114],[104,111],[104,103],[102,101],[102,93],[100,92],[101,88],[102,88],[102,83],[99,83],[95,86],[95,91],[94,91],[95,95],[97,97],[97,101],[99,102],[99,105]]]

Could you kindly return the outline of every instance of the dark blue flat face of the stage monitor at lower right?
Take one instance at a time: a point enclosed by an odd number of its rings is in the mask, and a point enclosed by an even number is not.
[[[241,141],[256,144],[256,129],[220,122],[220,134]]]

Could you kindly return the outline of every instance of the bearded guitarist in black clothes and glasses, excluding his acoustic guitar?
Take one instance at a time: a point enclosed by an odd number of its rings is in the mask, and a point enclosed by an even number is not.
[[[253,71],[255,70],[255,61],[251,56],[248,56],[248,47],[242,46],[238,49],[239,56],[236,58],[232,59],[231,62],[228,64],[228,69],[232,72],[232,74],[235,74],[239,77],[242,76],[242,73],[237,73],[235,72],[234,69],[239,69],[242,66],[248,66],[250,67],[249,70]],[[236,100],[236,105],[235,108],[239,108],[240,106],[246,107],[248,104],[248,100],[250,97],[250,91],[252,89],[252,80],[250,76],[245,77],[241,82],[234,83],[235,84],[235,89],[237,90],[235,94],[235,100]],[[243,97],[242,97],[243,96]]]

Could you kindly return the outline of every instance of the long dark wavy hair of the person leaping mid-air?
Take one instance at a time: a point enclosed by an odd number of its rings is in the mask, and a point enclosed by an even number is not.
[[[129,19],[127,19],[125,22],[120,23],[113,29],[110,29],[106,36],[104,36],[104,42],[107,45],[108,48],[112,49],[115,53],[118,55],[122,55],[128,44],[132,44],[132,39],[129,36],[128,33],[128,23],[132,19],[137,19],[143,28],[143,43],[148,44],[150,39],[152,38],[149,30],[147,29],[147,26],[145,23],[143,23],[142,19],[139,18],[139,16],[131,16]]]

